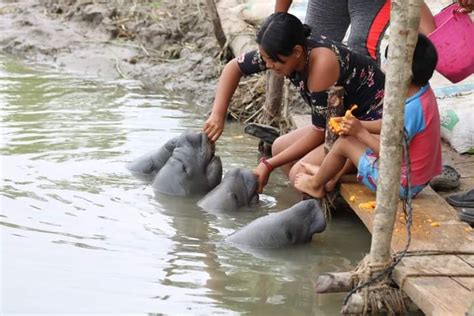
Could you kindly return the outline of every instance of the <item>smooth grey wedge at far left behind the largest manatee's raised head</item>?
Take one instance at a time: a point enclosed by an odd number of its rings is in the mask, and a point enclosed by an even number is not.
[[[138,177],[150,177],[149,180],[154,177],[158,171],[163,168],[168,159],[173,154],[173,150],[176,148],[179,137],[175,137],[167,141],[160,149],[144,154],[141,157],[133,160],[127,165],[127,169],[130,170],[135,176]]]

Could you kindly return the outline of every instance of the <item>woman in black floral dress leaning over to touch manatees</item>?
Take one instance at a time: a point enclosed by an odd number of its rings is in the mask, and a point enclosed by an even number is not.
[[[324,136],[328,89],[345,89],[344,107],[358,108],[354,115],[364,128],[379,133],[385,75],[376,62],[351,51],[345,45],[324,36],[309,38],[311,29],[294,15],[274,13],[257,33],[258,49],[230,61],[224,68],[209,118],[203,131],[211,141],[222,134],[230,99],[240,78],[271,69],[287,77],[311,107],[312,125],[280,136],[272,146],[272,158],[261,160],[254,170],[259,193],[271,171],[283,167],[293,182],[301,171],[298,160],[321,164],[324,157]]]

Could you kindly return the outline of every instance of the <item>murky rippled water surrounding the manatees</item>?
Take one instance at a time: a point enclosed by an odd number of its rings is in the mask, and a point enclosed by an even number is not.
[[[100,81],[0,56],[0,313],[334,315],[318,272],[346,271],[369,247],[353,215],[310,244],[244,253],[221,240],[298,200],[278,172],[252,213],[213,215],[155,196],[126,162],[205,111],[132,81]],[[225,170],[253,167],[257,141],[228,124]]]

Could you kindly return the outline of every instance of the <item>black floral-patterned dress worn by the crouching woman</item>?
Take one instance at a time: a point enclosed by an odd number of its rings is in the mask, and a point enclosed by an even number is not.
[[[295,71],[288,79],[296,86],[298,92],[311,106],[313,124],[326,128],[328,91],[311,92],[308,89],[308,64],[311,50],[326,47],[332,50],[339,61],[340,73],[335,86],[344,87],[344,108],[357,104],[353,115],[360,120],[370,121],[382,117],[385,75],[371,58],[351,51],[347,46],[318,35],[308,39],[305,47],[306,63],[303,71]],[[265,62],[258,50],[243,54],[237,58],[240,70],[250,75],[266,70]]]

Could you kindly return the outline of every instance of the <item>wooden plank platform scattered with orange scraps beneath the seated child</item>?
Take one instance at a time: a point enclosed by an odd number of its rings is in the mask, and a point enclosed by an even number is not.
[[[357,183],[343,183],[341,194],[372,232],[375,210],[359,206],[361,203],[375,201],[375,194]],[[391,243],[392,252],[401,251],[406,245],[405,219],[402,214],[399,205]],[[434,222],[439,223],[439,226],[432,226]],[[474,231],[469,225],[459,221],[456,211],[429,187],[413,200],[412,242],[409,251],[416,250],[474,253]],[[403,290],[425,314],[465,315],[473,299],[472,263],[474,255],[406,257],[397,266],[393,276],[401,285],[407,275],[438,275],[408,277],[404,281]],[[442,274],[453,276],[441,276]]]

